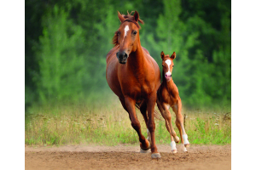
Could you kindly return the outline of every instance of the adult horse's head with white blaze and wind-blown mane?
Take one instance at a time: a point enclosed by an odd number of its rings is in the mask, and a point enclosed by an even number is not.
[[[128,13],[128,12],[127,12]],[[113,44],[119,45],[119,52],[116,54],[120,64],[125,64],[129,54],[137,50],[137,44],[140,43],[138,21],[143,24],[143,20],[139,19],[137,11],[133,14],[122,15],[118,12],[121,25],[119,30],[115,32]]]

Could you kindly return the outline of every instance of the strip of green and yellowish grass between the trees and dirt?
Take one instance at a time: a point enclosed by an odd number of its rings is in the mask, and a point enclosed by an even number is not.
[[[110,104],[35,106],[26,116],[25,143],[27,145],[62,144],[138,144],[136,131],[131,127],[128,113],[117,98]],[[156,109],[157,107],[155,107]],[[156,109],[158,111],[158,109]],[[160,112],[159,112],[160,113]],[[228,111],[186,110],[183,108],[185,129],[190,144],[230,144],[231,115]],[[175,114],[172,125],[175,125]],[[137,110],[143,135],[147,128],[143,116]],[[157,144],[170,144],[165,122],[155,120]]]

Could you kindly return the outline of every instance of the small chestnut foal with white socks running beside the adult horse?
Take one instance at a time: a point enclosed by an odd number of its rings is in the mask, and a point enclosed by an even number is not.
[[[188,135],[185,132],[183,126],[183,115],[181,114],[182,102],[178,94],[177,86],[172,80],[172,68],[174,66],[173,59],[176,58],[175,52],[172,56],[165,55],[164,52],[161,52],[162,66],[163,66],[163,82],[160,85],[160,88],[157,90],[157,106],[166,120],[166,128],[171,135],[171,147],[172,153],[177,153],[177,148],[175,142],[179,142],[179,138],[175,133],[172,127],[171,113],[169,111],[170,106],[172,111],[176,114],[176,126],[179,130],[182,144],[184,145],[183,151],[187,151],[186,147],[189,147]],[[173,140],[174,137],[174,140]]]

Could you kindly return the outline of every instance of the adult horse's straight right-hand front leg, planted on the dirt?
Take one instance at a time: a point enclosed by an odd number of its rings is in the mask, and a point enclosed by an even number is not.
[[[151,157],[152,158],[160,158],[160,153],[157,151],[156,144],[155,144],[155,137],[154,137],[154,130],[155,130],[155,124],[154,124],[154,104],[156,102],[156,92],[152,93],[150,95],[150,98],[148,99],[147,104],[147,110],[148,110],[148,122],[147,127],[148,131],[151,136]]]

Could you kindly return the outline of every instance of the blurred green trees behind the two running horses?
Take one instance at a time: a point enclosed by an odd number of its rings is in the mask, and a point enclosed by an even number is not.
[[[26,108],[112,93],[106,54],[117,11],[127,10],[144,20],[141,43],[159,65],[161,51],[176,52],[173,79],[183,105],[231,104],[231,1],[26,0],[25,7]]]

